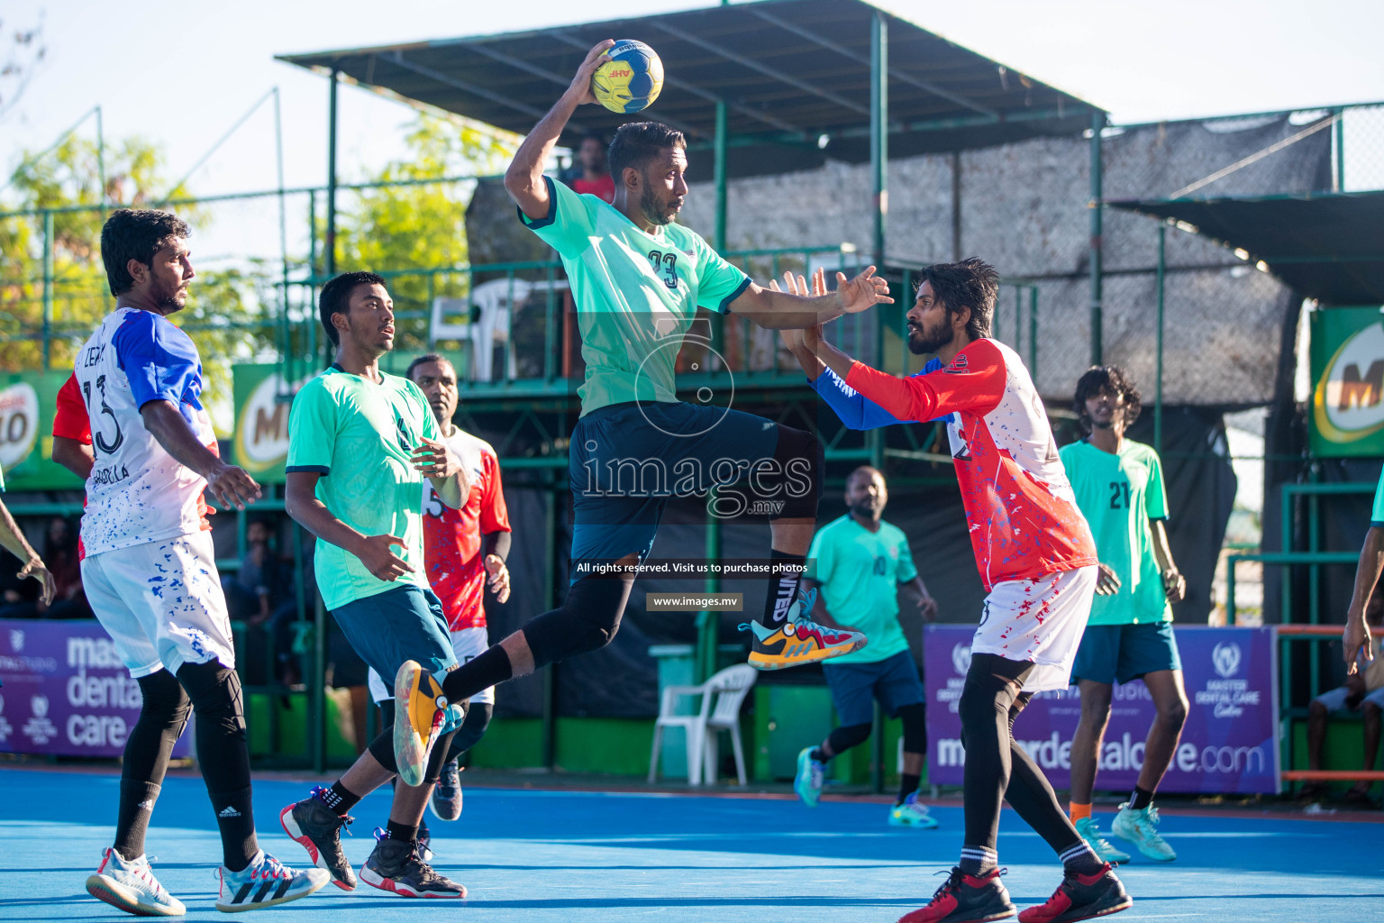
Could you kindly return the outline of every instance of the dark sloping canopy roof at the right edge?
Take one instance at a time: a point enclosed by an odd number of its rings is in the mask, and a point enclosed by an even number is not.
[[[1384,304],[1384,192],[1106,205],[1194,226],[1324,304]]]

